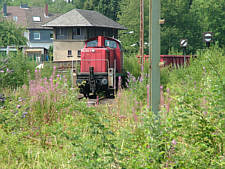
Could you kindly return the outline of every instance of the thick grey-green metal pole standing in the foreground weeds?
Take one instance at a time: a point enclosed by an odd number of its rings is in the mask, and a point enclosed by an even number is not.
[[[160,0],[152,0],[151,17],[151,106],[152,111],[157,115],[160,105]]]

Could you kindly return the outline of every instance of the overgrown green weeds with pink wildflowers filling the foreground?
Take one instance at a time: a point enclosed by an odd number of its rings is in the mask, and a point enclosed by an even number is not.
[[[223,168],[224,56],[213,47],[163,69],[160,118],[147,109],[144,76],[130,74],[113,103],[90,107],[55,69],[35,71],[4,89],[0,168]]]

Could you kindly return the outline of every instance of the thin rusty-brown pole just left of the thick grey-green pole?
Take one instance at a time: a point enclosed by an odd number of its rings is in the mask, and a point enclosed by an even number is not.
[[[141,72],[144,69],[144,0],[140,0],[140,57]]]

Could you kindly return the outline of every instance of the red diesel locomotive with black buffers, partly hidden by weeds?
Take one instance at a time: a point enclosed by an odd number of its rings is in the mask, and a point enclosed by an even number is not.
[[[76,83],[85,97],[99,92],[114,95],[119,76],[121,84],[125,83],[123,52],[116,39],[98,36],[87,40],[81,50],[80,66]]]

